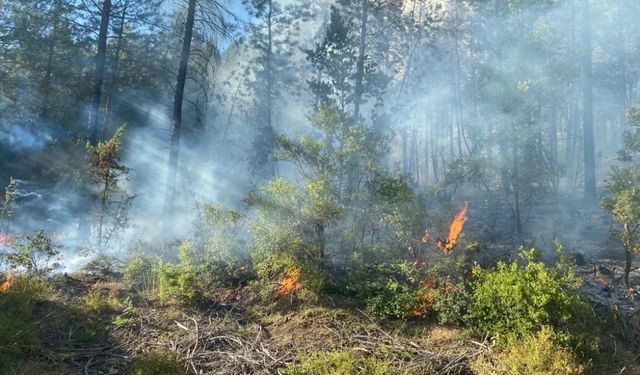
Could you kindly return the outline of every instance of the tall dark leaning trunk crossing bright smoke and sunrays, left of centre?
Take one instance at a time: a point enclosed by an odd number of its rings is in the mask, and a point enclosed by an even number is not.
[[[191,51],[191,39],[193,38],[193,24],[196,13],[196,0],[189,0],[187,10],[187,23],[182,40],[182,52],[180,54],[180,68],[176,81],[176,93],[173,101],[173,114],[171,117],[171,146],[169,149],[169,171],[167,176],[167,196],[164,204],[164,232],[170,236],[173,221],[173,204],[176,196],[176,184],[178,175],[178,153],[180,150],[180,130],[182,129],[182,101],[184,98],[184,85],[187,79],[187,66]]]

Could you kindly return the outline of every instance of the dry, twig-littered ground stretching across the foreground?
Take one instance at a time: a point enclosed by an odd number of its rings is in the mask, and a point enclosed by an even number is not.
[[[606,275],[594,276],[587,265],[582,269],[585,292],[610,296],[602,308],[615,309],[616,298],[633,300],[617,285],[601,293]],[[178,308],[136,299],[117,275],[58,275],[53,285],[55,295],[35,316],[43,332],[42,354],[14,367],[15,374],[132,373],[136,360],[157,365],[166,353],[183,366],[176,373],[278,374],[317,352],[384,358],[386,366],[407,374],[471,374],[469,362],[491,350],[488,342],[474,341],[457,328],[424,320],[375,321],[344,297],[265,303],[251,286],[211,287],[206,303]],[[630,341],[638,340],[640,327],[621,327],[625,330],[635,335],[602,334],[609,354],[589,374],[640,374]],[[141,372],[146,373],[172,374]]]

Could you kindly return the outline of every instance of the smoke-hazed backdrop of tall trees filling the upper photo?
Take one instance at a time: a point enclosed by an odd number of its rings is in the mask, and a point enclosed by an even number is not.
[[[28,185],[35,195],[17,200],[57,207],[47,215],[69,236],[91,199],[87,140],[126,123],[132,223],[165,206],[179,232],[195,201],[243,207],[265,181],[296,176],[275,157],[278,135],[340,152],[346,138],[310,120],[335,105],[346,128],[385,137],[385,170],[417,191],[482,194],[517,238],[537,203],[581,192],[596,207],[637,101],[630,0],[0,6],[0,185]],[[339,198],[371,178],[355,169]]]

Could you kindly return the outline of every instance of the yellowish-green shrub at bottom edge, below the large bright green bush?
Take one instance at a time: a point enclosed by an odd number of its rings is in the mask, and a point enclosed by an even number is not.
[[[538,333],[509,344],[494,358],[478,357],[471,369],[478,375],[580,375],[585,366],[575,354],[556,344],[553,330],[542,327]]]

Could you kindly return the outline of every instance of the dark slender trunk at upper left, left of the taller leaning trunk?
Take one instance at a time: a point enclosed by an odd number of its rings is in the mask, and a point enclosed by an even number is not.
[[[102,97],[102,82],[104,80],[104,65],[107,60],[107,35],[109,33],[109,15],[111,13],[111,0],[102,3],[100,16],[100,33],[98,34],[98,53],[96,55],[95,85],[93,87],[93,101],[89,112],[89,142],[95,145],[98,142],[98,117],[100,115],[100,100]]]

